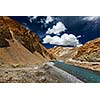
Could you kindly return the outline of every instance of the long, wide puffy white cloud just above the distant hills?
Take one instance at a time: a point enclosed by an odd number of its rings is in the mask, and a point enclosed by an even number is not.
[[[79,45],[79,40],[73,34],[64,33],[61,37],[47,35],[43,39],[43,43],[49,43],[54,45],[63,45],[63,46],[77,46]]]

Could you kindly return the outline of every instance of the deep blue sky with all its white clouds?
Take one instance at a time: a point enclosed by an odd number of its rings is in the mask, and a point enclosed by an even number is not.
[[[10,16],[35,32],[46,48],[80,46],[100,37],[99,16]]]

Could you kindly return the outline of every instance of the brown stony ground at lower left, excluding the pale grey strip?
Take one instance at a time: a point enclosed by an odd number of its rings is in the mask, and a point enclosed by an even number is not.
[[[61,80],[49,72],[46,64],[2,65],[0,83],[60,83]]]

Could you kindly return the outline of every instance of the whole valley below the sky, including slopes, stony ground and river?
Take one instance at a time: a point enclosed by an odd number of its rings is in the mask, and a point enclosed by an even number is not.
[[[100,82],[99,72],[100,38],[80,47],[47,49],[36,33],[0,16],[1,83]]]

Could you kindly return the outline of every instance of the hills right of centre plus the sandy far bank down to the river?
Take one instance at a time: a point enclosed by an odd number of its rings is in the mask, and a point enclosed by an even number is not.
[[[87,42],[81,47],[55,47],[49,49],[58,60],[67,64],[100,71],[100,38]]]

